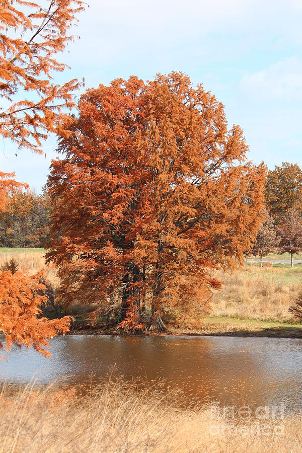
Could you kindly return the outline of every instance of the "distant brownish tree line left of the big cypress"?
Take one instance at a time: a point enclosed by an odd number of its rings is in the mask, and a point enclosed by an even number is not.
[[[0,212],[0,247],[44,247],[48,239],[47,194],[15,190]]]

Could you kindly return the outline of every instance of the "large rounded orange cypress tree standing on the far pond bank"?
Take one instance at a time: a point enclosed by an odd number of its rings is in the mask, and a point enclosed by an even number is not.
[[[266,169],[241,129],[176,72],[88,90],[70,121],[48,181],[65,303],[119,303],[122,327],[159,330],[171,308],[204,310],[212,270],[241,263],[262,220]]]

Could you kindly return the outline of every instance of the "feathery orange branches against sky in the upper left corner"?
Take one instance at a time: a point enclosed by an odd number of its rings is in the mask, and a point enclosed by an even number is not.
[[[80,0],[48,0],[45,8],[39,3],[0,4],[0,134],[42,152],[41,138],[60,127],[79,88],[77,80],[55,84],[51,73],[66,68],[54,56],[73,40],[67,32],[84,8]]]

